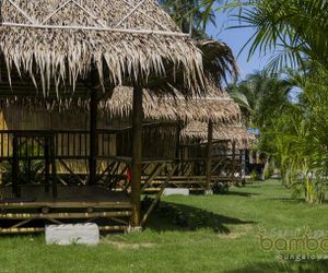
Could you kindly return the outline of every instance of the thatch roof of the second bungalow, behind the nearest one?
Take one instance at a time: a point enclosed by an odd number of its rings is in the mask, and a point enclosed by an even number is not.
[[[143,107],[148,119],[165,119],[181,121],[209,121],[231,123],[241,118],[239,107],[229,97],[225,92],[220,91],[213,84],[207,84],[204,97],[185,97],[176,94],[172,96],[153,96],[150,91],[144,90]],[[113,97],[101,103],[104,112],[110,117],[126,117],[132,111],[132,90],[120,86],[114,91]]]

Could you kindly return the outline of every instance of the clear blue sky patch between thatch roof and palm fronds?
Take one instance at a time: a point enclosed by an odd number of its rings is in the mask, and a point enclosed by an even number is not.
[[[254,29],[251,28],[234,28],[226,29],[229,26],[237,25],[237,22],[234,22],[233,19],[229,19],[226,14],[218,13],[216,15],[216,26],[209,25],[208,34],[213,38],[219,39],[227,44],[234,55],[237,57],[243,46],[254,34]],[[254,71],[261,70],[266,67],[268,61],[268,57],[259,57],[257,52],[251,57],[249,61],[247,61],[248,50],[245,48],[242,54],[237,58],[237,63],[241,70],[241,78],[245,79],[245,76]]]

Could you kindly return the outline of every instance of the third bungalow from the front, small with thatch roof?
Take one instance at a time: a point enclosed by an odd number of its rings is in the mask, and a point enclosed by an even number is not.
[[[256,142],[256,136],[239,123],[214,126],[212,135],[213,188],[244,181],[245,152]],[[209,138],[207,123],[190,122],[183,130],[181,138],[185,157],[206,156]]]

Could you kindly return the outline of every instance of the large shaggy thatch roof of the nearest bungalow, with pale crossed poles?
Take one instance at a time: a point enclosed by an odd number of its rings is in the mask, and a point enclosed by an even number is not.
[[[202,67],[201,51],[154,0],[1,1],[0,87],[7,96],[35,94],[35,86],[59,96],[136,83],[199,93]]]

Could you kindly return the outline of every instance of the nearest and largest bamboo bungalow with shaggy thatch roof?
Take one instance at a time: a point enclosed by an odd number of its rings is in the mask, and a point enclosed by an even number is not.
[[[169,94],[175,87],[184,96],[203,94],[200,50],[153,0],[3,0],[0,8],[2,102],[72,100],[74,105],[89,99],[90,110],[82,131],[71,131],[61,119],[60,130],[1,131],[1,161],[9,163],[11,178],[1,188],[0,233],[40,232],[44,226],[35,226],[34,221],[58,224],[72,218],[106,219],[101,225],[104,230],[138,229],[142,90]],[[129,195],[96,185],[97,163],[105,157],[98,139],[110,139],[98,130],[98,103],[107,100],[117,85],[133,87],[131,156],[125,158],[132,173]],[[59,153],[60,138],[61,142],[74,138],[75,146]],[[81,157],[89,165],[87,186],[59,185],[57,161]],[[43,163],[43,178],[20,185],[19,170],[26,158]]]

